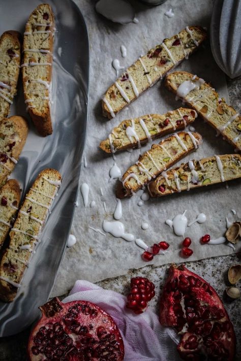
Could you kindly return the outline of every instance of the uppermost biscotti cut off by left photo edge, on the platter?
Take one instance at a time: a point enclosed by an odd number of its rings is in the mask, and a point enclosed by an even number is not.
[[[17,92],[21,64],[20,33],[5,31],[0,38],[0,120],[9,115]]]

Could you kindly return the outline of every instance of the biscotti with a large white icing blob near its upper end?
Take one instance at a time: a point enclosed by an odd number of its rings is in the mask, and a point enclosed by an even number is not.
[[[196,75],[186,72],[168,74],[165,85],[194,108],[208,124],[212,125],[223,138],[241,150],[241,117],[212,86]]]

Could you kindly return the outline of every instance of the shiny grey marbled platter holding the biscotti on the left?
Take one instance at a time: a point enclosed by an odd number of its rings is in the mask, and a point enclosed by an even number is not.
[[[28,16],[39,0],[0,3],[0,33],[14,29],[23,34]],[[53,134],[40,137],[25,111],[22,84],[11,106],[11,115],[27,117],[29,134],[11,178],[19,181],[22,197],[38,173],[55,168],[63,176],[41,243],[12,303],[0,302],[0,336],[16,334],[39,315],[51,292],[70,232],[78,191],[88,111],[89,48],[86,25],[71,0],[49,0],[55,16],[52,78]]]

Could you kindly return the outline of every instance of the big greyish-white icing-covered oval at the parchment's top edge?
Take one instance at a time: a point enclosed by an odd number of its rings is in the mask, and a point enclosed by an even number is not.
[[[120,24],[135,22],[133,7],[123,0],[100,0],[96,3],[96,11],[107,19]]]

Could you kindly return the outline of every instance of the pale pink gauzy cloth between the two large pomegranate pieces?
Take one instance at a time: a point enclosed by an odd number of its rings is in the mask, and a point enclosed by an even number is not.
[[[178,339],[169,327],[162,327],[158,316],[147,309],[135,315],[125,307],[126,297],[103,289],[91,282],[75,282],[64,303],[90,301],[108,312],[115,320],[125,344],[125,361],[179,361],[176,351]]]

